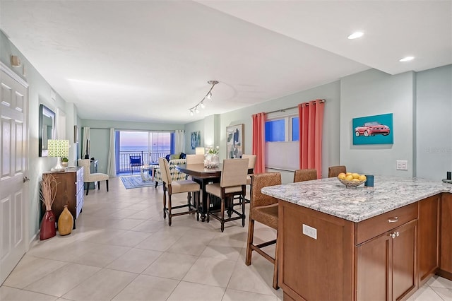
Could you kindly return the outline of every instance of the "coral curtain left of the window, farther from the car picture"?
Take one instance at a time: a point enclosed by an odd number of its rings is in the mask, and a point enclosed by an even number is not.
[[[253,155],[256,155],[254,173],[266,172],[266,113],[253,116]]]

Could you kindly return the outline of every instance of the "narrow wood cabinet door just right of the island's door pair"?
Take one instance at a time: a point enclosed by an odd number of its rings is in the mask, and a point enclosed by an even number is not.
[[[417,252],[419,259],[419,285],[422,285],[438,268],[439,245],[439,196],[419,201],[417,225]]]

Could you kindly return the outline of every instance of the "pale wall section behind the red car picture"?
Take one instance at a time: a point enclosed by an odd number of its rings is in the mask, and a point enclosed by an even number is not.
[[[347,171],[412,177],[414,78],[370,69],[341,79],[340,164]],[[353,145],[353,118],[386,113],[393,113],[393,144]],[[408,160],[408,171],[396,170],[396,160]]]

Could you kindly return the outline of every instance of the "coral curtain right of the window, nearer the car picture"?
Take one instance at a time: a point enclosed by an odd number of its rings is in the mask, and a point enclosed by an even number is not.
[[[322,130],[324,100],[312,100],[298,105],[299,167],[314,168],[322,177]]]

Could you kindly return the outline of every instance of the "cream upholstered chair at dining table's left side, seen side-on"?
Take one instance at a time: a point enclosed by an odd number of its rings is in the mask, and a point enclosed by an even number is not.
[[[189,179],[173,181],[169,173],[169,165],[165,158],[158,158],[160,172],[163,182],[163,218],[168,215],[168,225],[171,226],[173,216],[182,216],[184,214],[196,213],[196,220],[199,220],[199,184]],[[179,206],[172,206],[172,194],[187,194],[187,203]],[[191,193],[194,193],[195,207],[191,208]],[[168,194],[168,206],[167,206]],[[189,211],[173,213],[173,209],[188,207]]]

